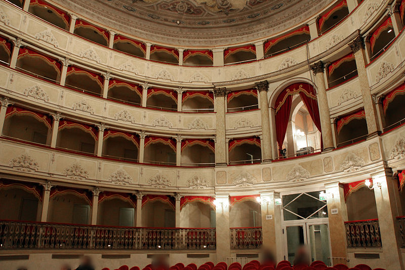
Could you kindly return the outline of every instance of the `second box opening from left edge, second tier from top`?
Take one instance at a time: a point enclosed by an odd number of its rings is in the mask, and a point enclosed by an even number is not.
[[[28,48],[20,49],[16,68],[41,79],[57,83],[60,80],[61,63]]]

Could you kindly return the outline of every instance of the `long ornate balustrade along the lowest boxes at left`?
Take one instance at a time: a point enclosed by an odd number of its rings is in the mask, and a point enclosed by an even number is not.
[[[216,230],[0,220],[2,249],[216,249]]]

